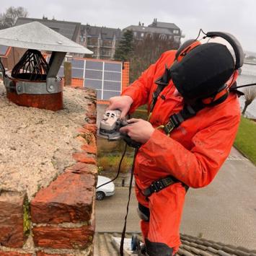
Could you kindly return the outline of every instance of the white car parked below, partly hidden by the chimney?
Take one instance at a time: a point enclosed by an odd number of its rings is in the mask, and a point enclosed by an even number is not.
[[[103,185],[106,182],[110,182],[110,183]],[[103,185],[103,186],[99,187],[100,185]],[[97,186],[96,186],[96,200],[103,200],[105,196],[110,196],[114,194],[115,194],[115,184],[110,180],[110,178],[99,175]]]

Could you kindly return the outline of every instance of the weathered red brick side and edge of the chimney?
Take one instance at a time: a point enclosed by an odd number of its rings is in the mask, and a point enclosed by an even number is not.
[[[74,136],[82,142],[67,168],[31,201],[26,193],[0,190],[1,256],[93,255],[94,190],[97,182],[96,97],[81,89],[89,103]]]

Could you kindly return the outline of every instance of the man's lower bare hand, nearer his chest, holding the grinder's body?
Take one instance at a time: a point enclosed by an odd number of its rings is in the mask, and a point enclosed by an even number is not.
[[[120,128],[121,133],[127,133],[134,141],[138,141],[141,144],[145,144],[146,141],[149,141],[154,128],[151,123],[143,120],[132,118],[127,120],[129,123],[125,127]]]

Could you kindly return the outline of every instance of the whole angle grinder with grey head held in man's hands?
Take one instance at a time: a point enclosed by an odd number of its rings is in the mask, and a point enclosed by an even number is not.
[[[120,118],[120,110],[107,110],[105,111],[102,121],[100,122],[100,129],[98,136],[107,138],[108,141],[118,141],[123,139],[128,146],[139,148],[141,144],[133,141],[127,133],[120,133],[120,128],[129,125],[127,120]]]

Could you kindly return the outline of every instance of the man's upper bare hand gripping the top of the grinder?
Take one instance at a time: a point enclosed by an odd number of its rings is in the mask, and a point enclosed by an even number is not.
[[[110,105],[107,107],[107,110],[120,110],[120,118],[124,118],[130,110],[132,103],[133,99],[127,95],[111,97]]]

